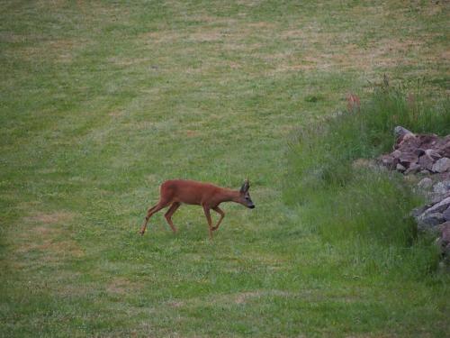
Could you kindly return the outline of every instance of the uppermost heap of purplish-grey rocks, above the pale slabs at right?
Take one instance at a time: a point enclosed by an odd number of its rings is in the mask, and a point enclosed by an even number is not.
[[[401,126],[394,130],[394,151],[379,160],[405,175],[450,172],[450,135],[414,134]]]

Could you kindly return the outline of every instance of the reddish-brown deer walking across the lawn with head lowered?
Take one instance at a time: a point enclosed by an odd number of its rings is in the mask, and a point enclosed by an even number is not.
[[[174,233],[177,232],[172,216],[175,211],[182,205],[202,206],[212,240],[212,232],[219,229],[219,225],[225,217],[225,213],[220,209],[219,205],[223,202],[235,202],[247,208],[255,208],[255,204],[251,200],[248,189],[250,182],[248,178],[244,181],[239,190],[232,190],[226,187],[217,187],[211,183],[202,183],[188,179],[169,179],[161,184],[159,188],[159,200],[155,206],[148,208],[144,224],[140,228],[139,233],[143,235],[147,229],[148,220],[159,210],[170,206],[164,215],[167,224]],[[220,215],[220,219],[216,225],[212,226],[211,213],[214,210]]]

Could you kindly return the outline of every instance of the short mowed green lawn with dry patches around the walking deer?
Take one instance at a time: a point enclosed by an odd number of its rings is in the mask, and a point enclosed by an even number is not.
[[[449,282],[356,273],[287,145],[386,74],[449,90],[446,1],[0,3],[0,336],[445,336]],[[168,178],[238,188],[211,242]],[[217,220],[217,215],[213,215]]]

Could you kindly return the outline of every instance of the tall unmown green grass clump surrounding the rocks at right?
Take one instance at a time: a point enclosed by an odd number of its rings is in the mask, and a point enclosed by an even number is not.
[[[392,150],[393,128],[450,132],[448,100],[434,106],[384,84],[359,105],[303,127],[291,145],[284,189],[302,221],[339,247],[357,269],[422,275],[437,265],[429,238],[418,236],[410,210],[421,203],[401,174],[368,160]]]

